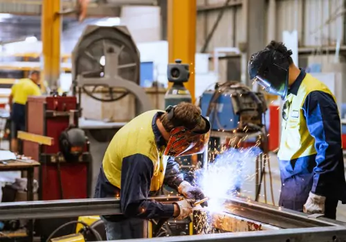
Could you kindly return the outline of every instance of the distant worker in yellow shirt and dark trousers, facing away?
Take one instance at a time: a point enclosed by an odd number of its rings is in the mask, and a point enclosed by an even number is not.
[[[39,96],[39,71],[32,71],[29,78],[13,84],[8,100],[11,109],[11,151],[18,151],[17,132],[24,131],[26,126],[26,101],[28,96]]]

